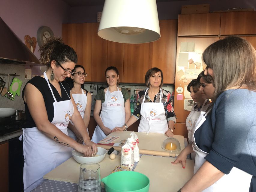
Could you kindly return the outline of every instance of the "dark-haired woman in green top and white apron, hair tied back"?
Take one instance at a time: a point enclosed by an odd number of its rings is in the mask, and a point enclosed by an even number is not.
[[[125,88],[119,88],[119,73],[116,67],[105,71],[108,87],[101,89],[95,97],[93,116],[97,126],[92,141],[98,143],[115,127],[122,127],[131,117],[130,97]],[[100,114],[101,112],[101,114]]]

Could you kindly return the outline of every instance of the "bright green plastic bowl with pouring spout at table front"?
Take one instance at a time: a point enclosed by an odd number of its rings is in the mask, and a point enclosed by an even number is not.
[[[149,178],[134,171],[119,171],[111,173],[101,181],[106,192],[148,192]]]

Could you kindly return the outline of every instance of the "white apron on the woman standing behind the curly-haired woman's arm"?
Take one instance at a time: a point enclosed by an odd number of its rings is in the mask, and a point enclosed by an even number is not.
[[[81,90],[82,90],[82,94],[72,94],[72,97],[75,100],[77,110],[79,111],[80,115],[83,118],[84,117],[84,111],[85,111],[86,104],[87,104],[87,95],[84,94],[84,91],[83,91],[82,88],[81,88]],[[70,90],[70,93],[71,93],[71,90]],[[70,123],[72,125],[74,125],[74,123],[72,121],[70,121]],[[87,128],[87,132],[88,132],[88,128]],[[69,128],[68,128],[68,136],[71,137],[74,140],[77,140],[76,135]]]

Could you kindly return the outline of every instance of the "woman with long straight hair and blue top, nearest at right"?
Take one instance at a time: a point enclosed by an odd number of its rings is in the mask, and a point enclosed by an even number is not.
[[[207,47],[203,61],[215,91],[194,132],[194,176],[179,191],[248,191],[256,176],[256,51],[230,36]]]

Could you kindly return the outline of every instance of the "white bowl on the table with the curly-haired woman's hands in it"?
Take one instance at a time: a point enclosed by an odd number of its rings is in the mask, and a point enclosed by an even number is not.
[[[97,156],[97,157],[83,157],[82,153],[77,152],[76,150],[72,151],[72,155],[73,155],[74,159],[80,164],[99,163],[104,159],[106,153],[107,153],[107,150],[104,148],[101,148],[101,147],[98,147],[98,152],[96,155],[99,155],[99,156]]]

